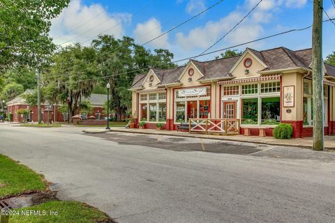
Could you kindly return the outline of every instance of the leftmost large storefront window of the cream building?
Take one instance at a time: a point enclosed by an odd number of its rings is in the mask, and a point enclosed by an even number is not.
[[[166,93],[142,93],[140,95],[140,120],[166,121]],[[148,101],[149,100],[149,101]]]

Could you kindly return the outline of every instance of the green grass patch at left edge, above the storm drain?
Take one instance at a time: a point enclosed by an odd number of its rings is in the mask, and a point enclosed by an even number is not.
[[[44,178],[28,167],[0,155],[0,198],[23,192],[45,190]]]

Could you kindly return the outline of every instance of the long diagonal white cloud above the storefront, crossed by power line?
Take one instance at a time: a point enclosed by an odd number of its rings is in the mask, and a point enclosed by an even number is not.
[[[237,24],[258,2],[259,0],[246,0],[243,6],[237,6],[234,12],[220,20],[207,22],[204,26],[195,27],[188,33],[177,33],[177,45],[185,50],[209,47],[218,38],[225,35],[234,24]],[[244,22],[223,39],[223,43],[234,45],[259,38],[263,33],[262,25],[271,22],[280,8],[301,8],[306,4],[306,0],[295,0],[294,2],[293,4],[292,0],[263,0]]]

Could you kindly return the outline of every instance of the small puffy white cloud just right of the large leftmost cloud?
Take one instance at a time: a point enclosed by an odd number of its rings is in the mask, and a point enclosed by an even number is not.
[[[156,20],[156,18],[151,18],[147,22],[137,24],[136,29],[134,31],[135,41],[139,44],[143,44],[155,38],[156,36],[161,35],[162,33],[163,32],[161,22]],[[168,48],[169,47],[168,34],[165,34],[160,38],[157,38],[151,43],[148,43],[148,45],[158,48]]]

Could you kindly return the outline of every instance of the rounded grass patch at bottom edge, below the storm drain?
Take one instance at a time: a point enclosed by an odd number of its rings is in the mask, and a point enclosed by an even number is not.
[[[43,210],[47,213],[45,216],[38,215],[15,215],[10,216],[10,223],[96,223],[112,222],[110,217],[102,213],[97,208],[77,201],[48,201],[28,208],[15,209],[22,210]],[[50,211],[57,212],[57,215],[50,215]]]

